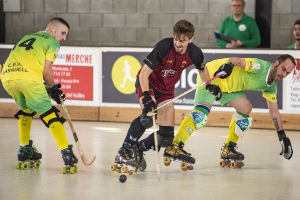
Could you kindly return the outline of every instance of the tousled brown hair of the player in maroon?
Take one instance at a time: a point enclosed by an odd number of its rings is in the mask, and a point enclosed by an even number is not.
[[[185,19],[177,21],[177,23],[173,26],[173,35],[176,38],[179,38],[182,34],[184,34],[191,39],[194,36],[194,32],[194,25]]]

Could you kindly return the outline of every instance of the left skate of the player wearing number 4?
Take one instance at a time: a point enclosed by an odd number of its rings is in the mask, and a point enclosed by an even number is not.
[[[42,163],[40,159],[42,154],[38,153],[35,146],[32,145],[32,140],[29,140],[29,145],[19,148],[18,163],[16,163],[17,169],[27,169],[35,167],[39,168]]]

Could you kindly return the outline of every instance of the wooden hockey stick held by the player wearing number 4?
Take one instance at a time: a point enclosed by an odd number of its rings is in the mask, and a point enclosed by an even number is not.
[[[68,113],[68,111],[67,111],[67,108],[66,108],[66,106],[65,106],[65,103],[64,103],[64,101],[61,99],[61,97],[59,97],[59,98],[60,98],[61,106],[62,106],[63,109],[64,109],[64,112],[65,112],[65,114],[66,114],[67,120],[68,120],[69,125],[70,125],[70,128],[71,128],[71,131],[72,131],[72,133],[73,133],[73,137],[74,137],[74,139],[75,139],[75,142],[76,142],[77,149],[78,149],[78,151],[79,151],[81,160],[82,160],[83,164],[85,164],[85,165],[88,166],[88,165],[90,165],[90,164],[92,164],[92,163],[94,162],[94,160],[96,159],[96,156],[95,156],[95,154],[93,154],[93,157],[92,157],[91,160],[87,160],[87,159],[86,159],[85,155],[83,154],[83,150],[82,150],[81,145],[80,145],[80,143],[79,143],[79,140],[78,140],[77,134],[76,134],[76,132],[75,132],[74,126],[73,126],[73,124],[72,124],[70,115],[69,115],[69,113]]]

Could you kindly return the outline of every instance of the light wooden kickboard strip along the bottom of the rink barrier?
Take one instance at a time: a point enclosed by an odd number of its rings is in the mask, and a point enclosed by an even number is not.
[[[55,105],[61,112],[59,116],[66,117],[60,105]],[[0,103],[0,117],[14,117],[19,111],[16,103]],[[140,108],[68,106],[72,120],[131,122],[141,115]],[[175,124],[179,125],[191,110],[175,110]],[[205,126],[228,127],[233,112],[211,111]],[[251,128],[274,129],[268,113],[251,113],[253,123]],[[284,130],[300,130],[300,115],[281,114]],[[38,118],[35,115],[34,118]],[[16,119],[17,120],[17,119]]]

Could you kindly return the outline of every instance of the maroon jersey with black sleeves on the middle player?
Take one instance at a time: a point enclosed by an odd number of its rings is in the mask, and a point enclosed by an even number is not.
[[[173,38],[160,40],[143,63],[153,70],[149,76],[149,83],[164,95],[174,94],[175,84],[179,81],[183,69],[194,64],[197,69],[203,70],[205,66],[200,48],[191,42],[186,52],[180,55],[174,50]],[[141,69],[138,77],[140,73]]]

